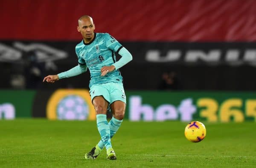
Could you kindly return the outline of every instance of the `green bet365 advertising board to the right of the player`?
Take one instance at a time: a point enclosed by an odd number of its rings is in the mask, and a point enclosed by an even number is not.
[[[252,92],[127,92],[126,117],[132,121],[256,121]]]

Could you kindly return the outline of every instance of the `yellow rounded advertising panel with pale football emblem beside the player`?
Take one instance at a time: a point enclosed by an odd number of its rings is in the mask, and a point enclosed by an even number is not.
[[[47,103],[50,120],[96,120],[96,112],[88,90],[59,89]]]

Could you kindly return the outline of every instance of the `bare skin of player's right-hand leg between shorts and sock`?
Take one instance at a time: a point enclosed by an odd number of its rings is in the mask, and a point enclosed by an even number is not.
[[[122,120],[125,116],[126,104],[122,101],[114,101],[111,105],[111,112],[114,118]]]

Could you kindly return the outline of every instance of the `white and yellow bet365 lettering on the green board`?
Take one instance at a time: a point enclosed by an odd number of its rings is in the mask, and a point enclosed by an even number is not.
[[[191,121],[198,118],[209,122],[256,121],[256,99],[227,98],[218,102],[214,98],[184,98],[178,106],[160,104],[155,109],[150,104],[143,104],[139,95],[129,99],[129,119],[132,121]]]

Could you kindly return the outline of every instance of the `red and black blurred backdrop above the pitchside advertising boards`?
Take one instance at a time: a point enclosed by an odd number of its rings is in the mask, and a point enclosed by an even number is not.
[[[0,6],[0,89],[88,88],[77,65],[81,15],[133,55],[126,90],[256,90],[255,0],[9,0]]]

